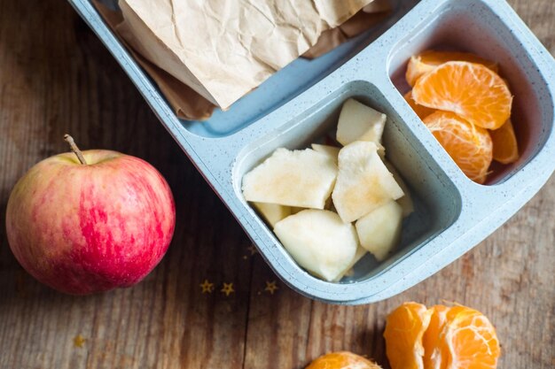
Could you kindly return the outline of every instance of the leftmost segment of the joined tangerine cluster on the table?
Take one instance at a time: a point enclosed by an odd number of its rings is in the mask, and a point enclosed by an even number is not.
[[[404,303],[387,316],[386,353],[392,369],[423,369],[422,336],[432,311],[417,303]]]

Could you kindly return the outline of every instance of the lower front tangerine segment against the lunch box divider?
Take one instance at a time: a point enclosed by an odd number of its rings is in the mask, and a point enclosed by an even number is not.
[[[486,181],[493,157],[487,129],[474,127],[449,111],[436,111],[423,122],[468,178],[478,183]]]

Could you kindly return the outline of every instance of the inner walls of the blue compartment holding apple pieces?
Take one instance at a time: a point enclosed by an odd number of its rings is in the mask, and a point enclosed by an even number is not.
[[[363,281],[383,268],[394,265],[395,260],[418,249],[433,239],[434,235],[449,227],[461,210],[461,198],[457,188],[427,154],[387,98],[367,81],[352,81],[310,107],[301,117],[291,119],[277,132],[271,132],[239,153],[233,171],[234,188],[241,203],[264,224],[263,227],[268,226],[250,208],[241,193],[241,181],[245,173],[262,163],[277,148],[302,150],[309,148],[310,143],[318,142],[324,135],[334,138],[341,106],[351,97],[387,114],[382,140],[386,148],[386,157],[410,187],[415,211],[404,219],[402,241],[389,258],[383,262],[378,262],[373,257],[364,258],[356,265],[356,273],[345,278],[343,282]],[[271,232],[270,227],[268,229]],[[275,236],[274,242],[279,242]]]

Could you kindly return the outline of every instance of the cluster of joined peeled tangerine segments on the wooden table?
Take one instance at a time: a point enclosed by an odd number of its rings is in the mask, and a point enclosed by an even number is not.
[[[496,328],[466,306],[404,303],[387,317],[392,369],[495,369],[501,354]]]

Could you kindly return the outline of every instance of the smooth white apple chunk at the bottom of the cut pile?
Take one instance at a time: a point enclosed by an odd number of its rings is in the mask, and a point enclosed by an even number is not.
[[[299,265],[325,281],[348,269],[358,246],[355,227],[332,211],[301,211],[277,222],[274,232]]]

